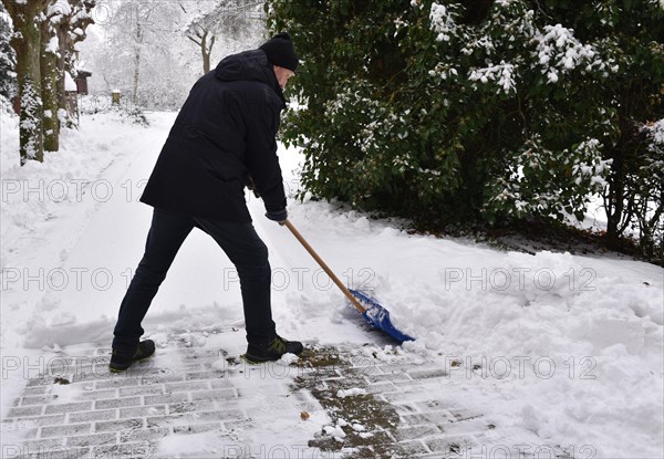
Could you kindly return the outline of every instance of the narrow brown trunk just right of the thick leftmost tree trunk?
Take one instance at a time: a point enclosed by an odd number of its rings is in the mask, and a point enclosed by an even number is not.
[[[60,80],[61,74],[58,71],[56,50],[51,46],[51,39],[54,38],[54,31],[51,29],[50,21],[41,23],[41,83],[43,102],[43,133],[44,150],[58,152],[60,149],[60,119],[58,109],[60,108]]]

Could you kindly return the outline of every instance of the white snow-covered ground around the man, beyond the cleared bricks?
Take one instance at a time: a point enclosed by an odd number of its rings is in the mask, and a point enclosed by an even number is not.
[[[149,228],[152,208],[138,197],[175,114],[148,117],[145,128],[114,114],[84,116],[80,131],[64,133],[60,153],[21,168],[18,122],[0,115],[3,417],[25,383],[6,362],[112,338]],[[294,191],[301,156],[282,148],[280,158]],[[370,342],[357,313],[290,232],[263,217],[259,199],[248,196],[248,204],[270,248],[279,333],[325,345]],[[581,458],[664,457],[661,268],[414,236],[334,204],[290,200],[289,216],[338,275],[416,337],[396,355],[367,352],[438,365],[449,374],[439,399],[495,419],[513,432],[512,445],[535,435]],[[241,327],[241,311],[232,265],[195,230],[144,327],[167,345],[173,330],[195,337],[203,328]],[[239,355],[237,336],[224,344]]]

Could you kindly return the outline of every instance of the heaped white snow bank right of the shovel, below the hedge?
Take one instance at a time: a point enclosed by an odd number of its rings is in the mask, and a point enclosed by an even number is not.
[[[664,426],[661,268],[408,236],[320,202],[291,215],[336,272],[354,272],[351,286],[371,292],[393,324],[417,338],[400,353],[449,375],[434,397],[463,399],[538,441],[592,445],[598,457],[662,452],[662,441],[652,440]],[[292,300],[323,320],[320,310],[343,301],[334,293],[312,285]],[[335,319],[320,328],[325,341],[336,333],[359,338],[353,310]],[[373,358],[396,358],[378,351]]]

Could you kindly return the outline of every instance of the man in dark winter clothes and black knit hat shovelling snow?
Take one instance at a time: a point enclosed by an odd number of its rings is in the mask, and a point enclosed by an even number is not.
[[[154,207],[145,254],[120,306],[110,367],[122,372],[149,357],[141,322],[178,249],[197,227],[236,265],[252,362],[300,354],[272,321],[268,249],[251,225],[245,186],[260,194],[266,216],[283,223],[286,194],[274,136],[283,87],[299,59],[288,33],[258,50],[229,55],[196,82],[178,114],[141,200]]]

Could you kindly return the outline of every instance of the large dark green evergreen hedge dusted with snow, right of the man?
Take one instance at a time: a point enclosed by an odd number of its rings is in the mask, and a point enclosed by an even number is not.
[[[661,117],[657,1],[268,9],[304,61],[284,138],[322,198],[443,221],[582,217],[634,126]]]

